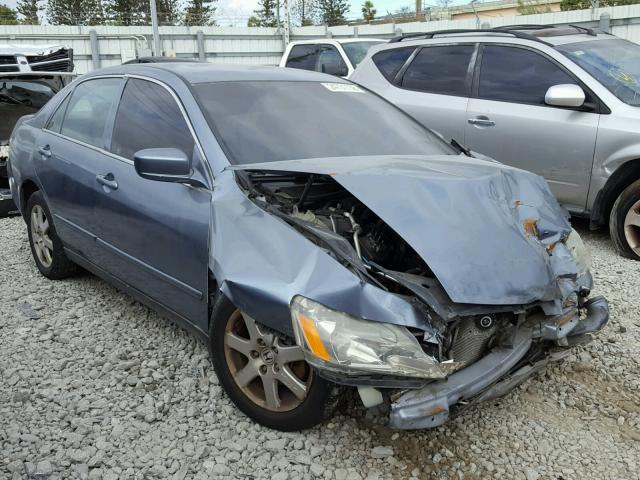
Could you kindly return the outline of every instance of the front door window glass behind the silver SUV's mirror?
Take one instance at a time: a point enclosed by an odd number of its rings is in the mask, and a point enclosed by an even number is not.
[[[478,96],[544,105],[549,87],[575,80],[544,56],[524,48],[489,46],[482,51]]]

